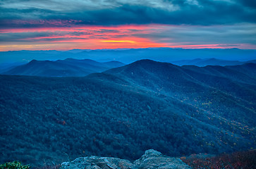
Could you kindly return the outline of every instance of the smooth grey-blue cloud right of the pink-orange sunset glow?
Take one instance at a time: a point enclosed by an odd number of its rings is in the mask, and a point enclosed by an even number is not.
[[[160,29],[161,28],[161,29]],[[154,33],[135,33],[161,43],[179,44],[253,44],[256,45],[256,24],[236,25],[161,25]]]

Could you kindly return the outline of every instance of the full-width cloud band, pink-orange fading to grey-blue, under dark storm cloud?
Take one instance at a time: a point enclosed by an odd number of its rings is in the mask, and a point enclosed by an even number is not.
[[[183,48],[256,49],[256,24],[236,25],[118,25],[27,28],[3,30],[0,48],[13,49],[12,44],[23,44],[33,49],[34,44],[49,44],[63,49],[102,49],[115,47],[169,46]],[[133,43],[132,43],[133,42]],[[8,44],[6,46],[6,44]],[[3,47],[2,47],[3,48]]]

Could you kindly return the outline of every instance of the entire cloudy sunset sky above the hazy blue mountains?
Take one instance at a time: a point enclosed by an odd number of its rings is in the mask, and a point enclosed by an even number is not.
[[[0,51],[256,49],[254,0],[0,0]]]

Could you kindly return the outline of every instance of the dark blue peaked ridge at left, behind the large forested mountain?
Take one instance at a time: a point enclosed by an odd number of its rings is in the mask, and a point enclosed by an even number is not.
[[[19,65],[2,74],[4,75],[32,75],[44,77],[85,76],[90,73],[100,73],[110,68],[124,65],[118,61],[99,63],[90,59],[78,60],[66,58],[58,61],[32,60],[25,65]]]

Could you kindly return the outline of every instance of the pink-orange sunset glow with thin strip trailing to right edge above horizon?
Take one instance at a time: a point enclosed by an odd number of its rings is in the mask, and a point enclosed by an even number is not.
[[[123,49],[148,47],[173,48],[230,48],[227,44],[193,44],[168,37],[176,25],[118,25],[75,26],[3,29],[0,35],[8,38],[0,42],[0,51]],[[181,27],[181,30],[185,27]],[[168,31],[168,34],[166,32]],[[157,36],[158,37],[157,37]],[[167,36],[166,36],[167,35]],[[178,41],[178,42],[176,42]],[[240,45],[240,44],[238,44]],[[241,46],[241,45],[240,45]],[[243,47],[243,46],[242,46]],[[248,46],[245,46],[245,48]],[[255,46],[252,46],[254,48]]]

